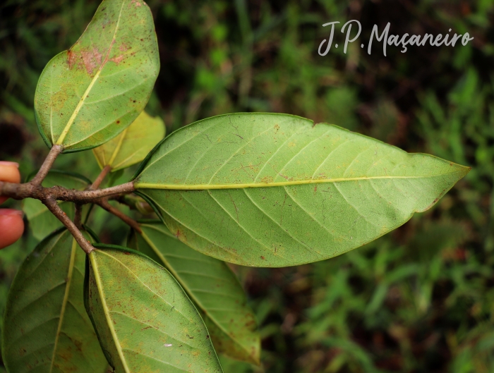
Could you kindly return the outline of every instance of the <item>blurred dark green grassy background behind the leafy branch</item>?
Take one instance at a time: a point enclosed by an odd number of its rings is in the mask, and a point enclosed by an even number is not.
[[[37,78],[76,42],[98,4],[0,5],[0,159],[19,161],[23,176],[47,154],[32,109]],[[263,367],[223,359],[225,372],[494,372],[494,1],[148,4],[161,72],[147,110],[164,118],[168,133],[217,114],[275,111],[473,167],[435,207],[366,247],[300,267],[236,267],[260,323]],[[333,47],[318,55],[328,36],[322,24],[352,19],[363,32],[347,54]],[[451,28],[474,40],[405,54],[388,47],[387,57],[374,42],[369,56],[360,43],[387,22],[393,34]],[[339,27],[335,42],[343,44]],[[56,168],[89,178],[99,171],[91,152],[63,155]],[[95,212],[91,225],[104,242],[126,236],[106,212]],[[0,252],[1,313],[35,243],[27,229]]]

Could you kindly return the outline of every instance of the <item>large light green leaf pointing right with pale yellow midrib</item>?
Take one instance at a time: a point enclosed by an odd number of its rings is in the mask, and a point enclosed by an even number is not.
[[[167,137],[134,185],[195,250],[284,267],[375,240],[468,172],[298,116],[227,114]]]

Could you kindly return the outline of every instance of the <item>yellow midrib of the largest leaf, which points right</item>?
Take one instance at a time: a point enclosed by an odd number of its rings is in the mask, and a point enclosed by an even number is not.
[[[282,181],[275,183],[238,183],[238,184],[159,184],[159,183],[134,183],[135,188],[140,189],[168,189],[168,190],[210,190],[210,189],[244,189],[244,188],[272,188],[287,185],[323,184],[323,183],[344,183],[347,181],[367,181],[379,179],[414,179],[414,178],[436,178],[439,176],[463,173],[462,170],[437,173],[429,176],[363,176],[359,178],[324,178],[308,179],[296,181]]]

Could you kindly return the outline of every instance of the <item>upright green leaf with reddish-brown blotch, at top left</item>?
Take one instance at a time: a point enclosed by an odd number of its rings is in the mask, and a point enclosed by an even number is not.
[[[35,114],[49,147],[90,149],[143,111],[159,71],[152,14],[141,0],[106,0],[83,35],[44,68]]]

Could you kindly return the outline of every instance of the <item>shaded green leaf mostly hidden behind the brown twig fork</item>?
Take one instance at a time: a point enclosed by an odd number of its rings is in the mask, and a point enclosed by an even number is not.
[[[28,177],[28,181],[35,176],[33,173],[30,177]],[[85,178],[78,173],[71,173],[66,171],[58,171],[51,170],[49,171],[42,185],[45,188],[51,188],[55,185],[63,186],[68,189],[76,189],[76,190],[84,190],[91,184],[91,181],[88,178]],[[74,204],[71,202],[60,202],[59,206],[64,212],[73,219],[74,215]],[[83,206],[83,221],[85,220],[85,216],[88,215],[90,209],[89,204],[85,204]],[[29,221],[29,227],[32,230],[32,235],[35,236],[37,240],[42,240],[47,236],[47,233],[56,230],[63,226],[59,219],[49,212],[46,206],[42,204],[40,200],[33,200],[32,198],[28,198],[23,200],[23,211],[25,212],[26,217]]]

